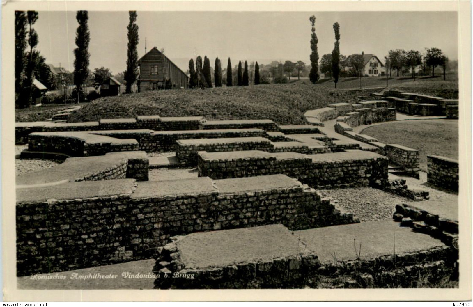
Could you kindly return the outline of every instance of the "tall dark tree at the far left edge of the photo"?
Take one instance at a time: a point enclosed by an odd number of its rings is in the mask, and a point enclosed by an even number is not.
[[[23,85],[26,59],[26,13],[15,11],[15,93],[19,95]]]

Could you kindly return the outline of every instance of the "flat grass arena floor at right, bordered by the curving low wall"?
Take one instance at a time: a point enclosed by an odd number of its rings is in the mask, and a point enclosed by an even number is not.
[[[427,155],[458,159],[458,121],[419,120],[391,122],[364,129],[361,133],[385,144],[399,144],[420,153],[420,169],[427,171]]]

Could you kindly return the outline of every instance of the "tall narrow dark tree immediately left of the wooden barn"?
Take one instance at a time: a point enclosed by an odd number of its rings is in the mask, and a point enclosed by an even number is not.
[[[123,78],[126,81],[126,93],[131,93],[131,86],[136,81],[138,77],[138,25],[136,24],[136,11],[128,12],[130,17],[130,22],[126,27],[128,29],[128,50],[127,50],[127,60],[126,60],[126,71]]]

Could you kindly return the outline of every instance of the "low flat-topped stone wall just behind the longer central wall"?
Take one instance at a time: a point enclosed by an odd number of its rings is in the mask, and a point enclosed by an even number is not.
[[[177,140],[176,158],[180,164],[194,166],[197,164],[197,152],[221,152],[242,150],[270,151],[273,148],[270,140],[253,138],[228,138],[228,139],[201,139]]]

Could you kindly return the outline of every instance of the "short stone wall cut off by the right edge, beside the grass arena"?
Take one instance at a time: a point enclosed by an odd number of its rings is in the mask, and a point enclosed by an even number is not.
[[[427,182],[458,191],[458,160],[442,156],[427,156]]]

